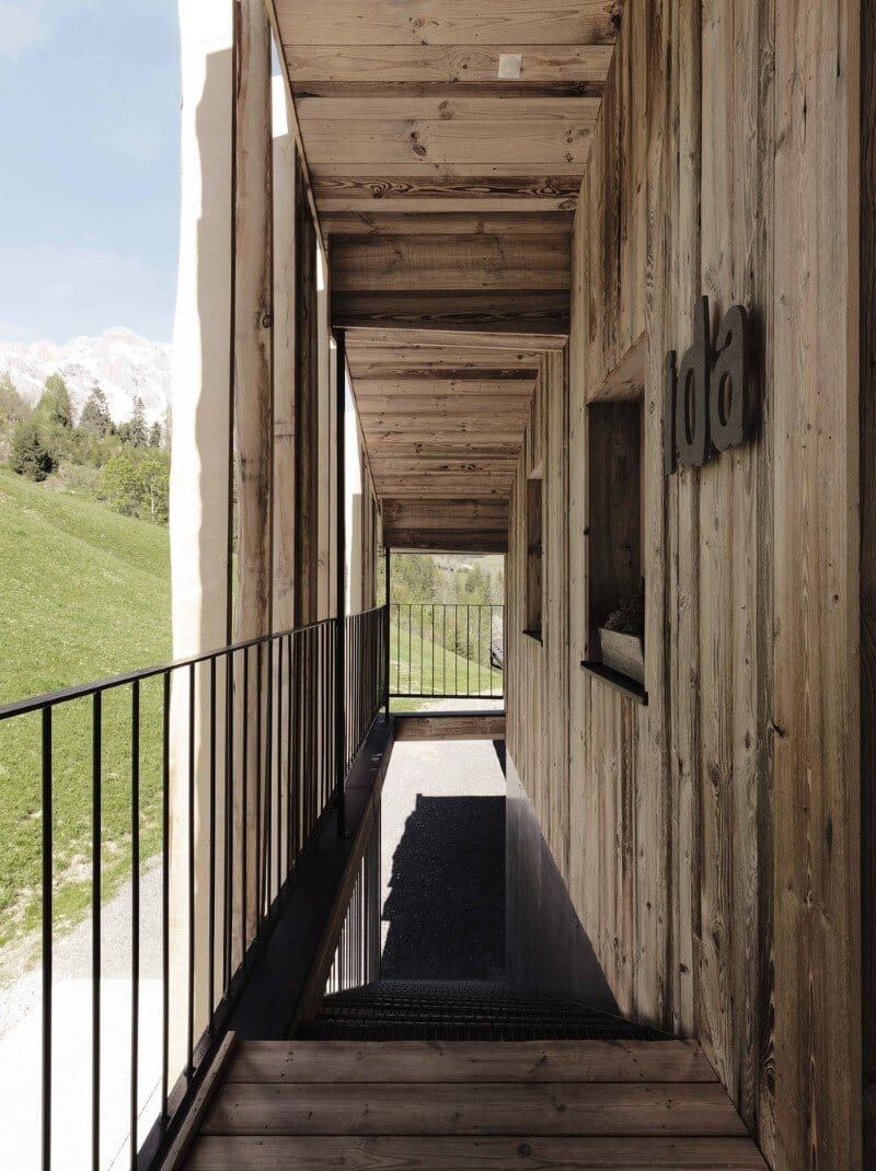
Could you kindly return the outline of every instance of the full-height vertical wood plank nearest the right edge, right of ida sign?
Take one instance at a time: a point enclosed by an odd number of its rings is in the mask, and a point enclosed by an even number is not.
[[[858,19],[776,4],[775,1160],[795,1169],[861,1166]]]

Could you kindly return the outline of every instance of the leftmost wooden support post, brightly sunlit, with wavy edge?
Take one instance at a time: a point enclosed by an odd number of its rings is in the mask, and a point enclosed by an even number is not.
[[[223,646],[231,635],[228,567],[232,354],[232,206],[234,62],[231,4],[179,0],[182,62],[182,198],[179,274],[173,326],[173,444],[170,547],[173,655]],[[208,817],[208,687],[196,672],[194,734],[189,734],[189,679],[171,697],[169,792],[169,1061],[186,1061],[190,822],[194,851],[206,857]],[[225,711],[224,682],[217,710]],[[218,719],[221,740],[224,723]],[[190,752],[194,759],[191,761]],[[193,802],[190,807],[190,775]],[[225,809],[217,809],[224,838]],[[221,851],[217,863],[223,864]],[[207,893],[194,875],[194,960],[207,970]],[[207,989],[196,988],[194,1029],[206,1020]]]

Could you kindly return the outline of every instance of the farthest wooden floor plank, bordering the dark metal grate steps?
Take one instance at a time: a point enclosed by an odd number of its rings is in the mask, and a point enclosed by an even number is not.
[[[226,1082],[717,1082],[691,1041],[246,1041]]]

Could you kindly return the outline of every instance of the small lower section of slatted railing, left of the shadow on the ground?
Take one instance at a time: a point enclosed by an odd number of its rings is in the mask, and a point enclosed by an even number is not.
[[[375,806],[368,843],[350,893],[347,915],[335,951],[326,995],[345,992],[381,977],[381,911],[383,908],[381,876],[381,803]]]

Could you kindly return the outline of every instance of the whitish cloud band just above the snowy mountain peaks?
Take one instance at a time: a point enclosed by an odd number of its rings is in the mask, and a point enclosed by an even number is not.
[[[80,245],[0,245],[0,341],[63,343],[126,326],[170,341],[176,273]]]

